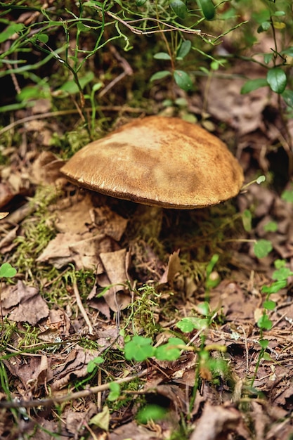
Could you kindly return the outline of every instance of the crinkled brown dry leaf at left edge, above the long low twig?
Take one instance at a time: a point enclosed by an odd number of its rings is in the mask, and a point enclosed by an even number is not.
[[[37,287],[26,286],[18,280],[2,292],[2,311],[11,321],[36,325],[48,316],[49,310]]]

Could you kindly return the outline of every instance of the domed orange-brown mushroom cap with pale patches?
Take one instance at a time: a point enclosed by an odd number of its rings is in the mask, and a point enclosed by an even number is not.
[[[176,209],[216,205],[243,183],[225,143],[176,117],[136,119],[86,145],[61,171],[99,193]]]

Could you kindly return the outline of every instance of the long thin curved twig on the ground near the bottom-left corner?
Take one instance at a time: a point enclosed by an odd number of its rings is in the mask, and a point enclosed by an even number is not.
[[[125,384],[127,382],[131,382],[131,380],[139,379],[140,377],[149,375],[153,371],[152,368],[145,368],[145,370],[137,373],[136,375],[122,377],[121,379],[117,379],[113,382],[98,385],[97,387],[92,387],[88,389],[84,389],[82,391],[76,393],[66,394],[65,396],[56,396],[51,397],[50,399],[36,399],[30,401],[24,401],[20,399],[19,401],[0,401],[0,408],[37,408],[37,406],[51,406],[55,403],[64,403],[68,401],[72,401],[74,399],[82,399],[86,396],[91,396],[91,394],[96,394],[100,392],[104,392],[107,389],[110,389],[110,384]]]

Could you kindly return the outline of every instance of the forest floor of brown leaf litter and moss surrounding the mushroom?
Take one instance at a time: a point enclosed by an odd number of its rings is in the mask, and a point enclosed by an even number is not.
[[[198,117],[204,100],[245,183],[266,176],[215,207],[164,209],[153,238],[137,235],[134,203],[60,173],[65,138],[84,136],[77,112],[42,98],[0,130],[0,252],[17,271],[1,273],[1,439],[293,438],[292,153],[277,100],[240,94],[245,69],[262,74],[239,61],[196,93],[176,88],[183,107],[158,86],[121,103],[114,86],[100,110],[102,136],[150,114]],[[160,358],[170,337],[182,344]]]

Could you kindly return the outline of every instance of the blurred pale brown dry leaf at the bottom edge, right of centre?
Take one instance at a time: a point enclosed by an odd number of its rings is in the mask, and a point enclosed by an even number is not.
[[[212,406],[207,402],[190,440],[225,440],[229,432],[240,434],[238,432],[240,422],[241,414],[235,408]]]

